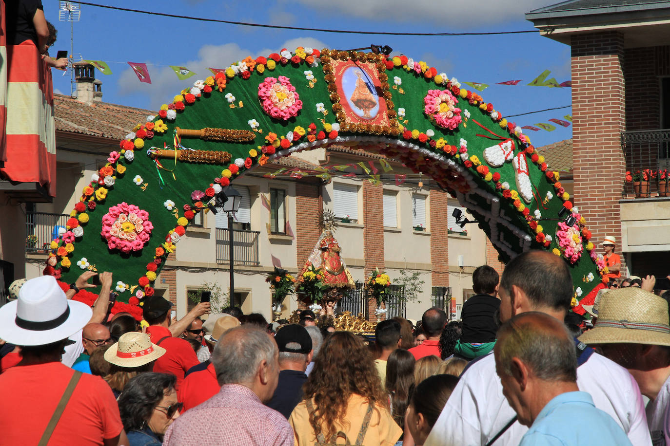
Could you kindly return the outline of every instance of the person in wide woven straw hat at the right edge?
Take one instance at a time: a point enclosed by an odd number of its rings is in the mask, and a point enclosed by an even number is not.
[[[598,320],[580,336],[628,369],[645,397],[654,446],[670,445],[670,326],[663,298],[636,287],[612,290],[598,304]]]

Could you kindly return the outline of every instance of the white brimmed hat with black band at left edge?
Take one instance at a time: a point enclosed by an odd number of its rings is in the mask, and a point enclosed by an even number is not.
[[[19,346],[58,342],[84,328],[92,314],[88,305],[68,300],[54,276],[42,275],[0,308],[0,338]]]

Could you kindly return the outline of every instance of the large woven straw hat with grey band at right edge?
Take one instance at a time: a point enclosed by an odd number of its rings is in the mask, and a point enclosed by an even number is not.
[[[579,337],[585,344],[650,344],[670,346],[668,303],[640,288],[603,294],[594,328]]]

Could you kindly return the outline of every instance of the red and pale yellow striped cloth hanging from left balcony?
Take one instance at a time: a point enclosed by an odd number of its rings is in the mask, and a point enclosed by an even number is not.
[[[0,169],[11,181],[40,183],[56,196],[54,88],[50,68],[30,40],[7,45],[0,0]]]

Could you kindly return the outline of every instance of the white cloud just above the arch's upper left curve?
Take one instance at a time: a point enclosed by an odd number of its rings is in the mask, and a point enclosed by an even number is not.
[[[179,80],[172,71],[172,68],[166,66],[149,65],[147,61],[147,68],[149,69],[149,76],[151,76],[151,84],[139,82],[135,72],[131,68],[127,68],[119,76],[119,92],[120,96],[131,96],[134,94],[146,94],[149,96],[149,104],[147,108],[150,110],[158,110],[161,104],[172,102],[172,98],[187,86],[192,86],[193,82],[198,79],[204,79],[211,76],[208,67],[212,68],[226,68],[230,64],[243,60],[247,55],[257,58],[259,55],[267,56],[270,53],[278,52],[282,48],[288,48],[294,51],[295,48],[312,47],[322,49],[327,45],[314,37],[303,37],[297,39],[290,39],[281,43],[277,47],[265,48],[260,51],[251,51],[250,49],[241,48],[237,43],[226,43],[225,45],[204,45],[198,50],[198,58],[188,62],[181,62],[174,60],[171,62],[174,65],[185,66],[192,72],[197,73],[186,80]]]

